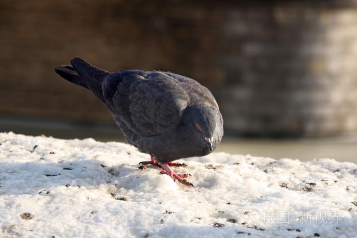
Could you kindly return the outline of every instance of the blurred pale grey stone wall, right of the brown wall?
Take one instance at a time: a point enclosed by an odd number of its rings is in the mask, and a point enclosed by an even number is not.
[[[248,135],[357,129],[357,11],[310,5],[233,9],[220,56],[225,123]],[[234,44],[234,42],[238,42]]]

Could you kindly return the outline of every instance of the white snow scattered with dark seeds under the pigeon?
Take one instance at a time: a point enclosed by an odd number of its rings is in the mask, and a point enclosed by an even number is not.
[[[212,153],[178,162],[133,146],[0,133],[1,237],[356,237],[357,165]]]

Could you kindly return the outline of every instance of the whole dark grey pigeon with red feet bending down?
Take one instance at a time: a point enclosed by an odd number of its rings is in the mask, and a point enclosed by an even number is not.
[[[55,68],[65,80],[89,89],[106,106],[127,142],[151,155],[141,164],[160,166],[187,186],[169,166],[179,158],[211,153],[223,136],[223,119],[212,93],[191,78],[161,71],[110,73],[81,58]]]

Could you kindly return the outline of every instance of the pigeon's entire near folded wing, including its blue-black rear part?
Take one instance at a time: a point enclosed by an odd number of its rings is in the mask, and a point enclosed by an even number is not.
[[[129,141],[133,136],[161,135],[180,120],[189,96],[178,83],[158,71],[123,70],[106,78],[107,107]]]

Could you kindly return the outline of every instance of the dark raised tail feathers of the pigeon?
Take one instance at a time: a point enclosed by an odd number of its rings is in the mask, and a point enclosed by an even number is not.
[[[78,57],[71,60],[71,65],[62,65],[55,68],[55,71],[65,80],[89,89],[101,102],[105,103],[101,83],[109,72],[91,66]]]

